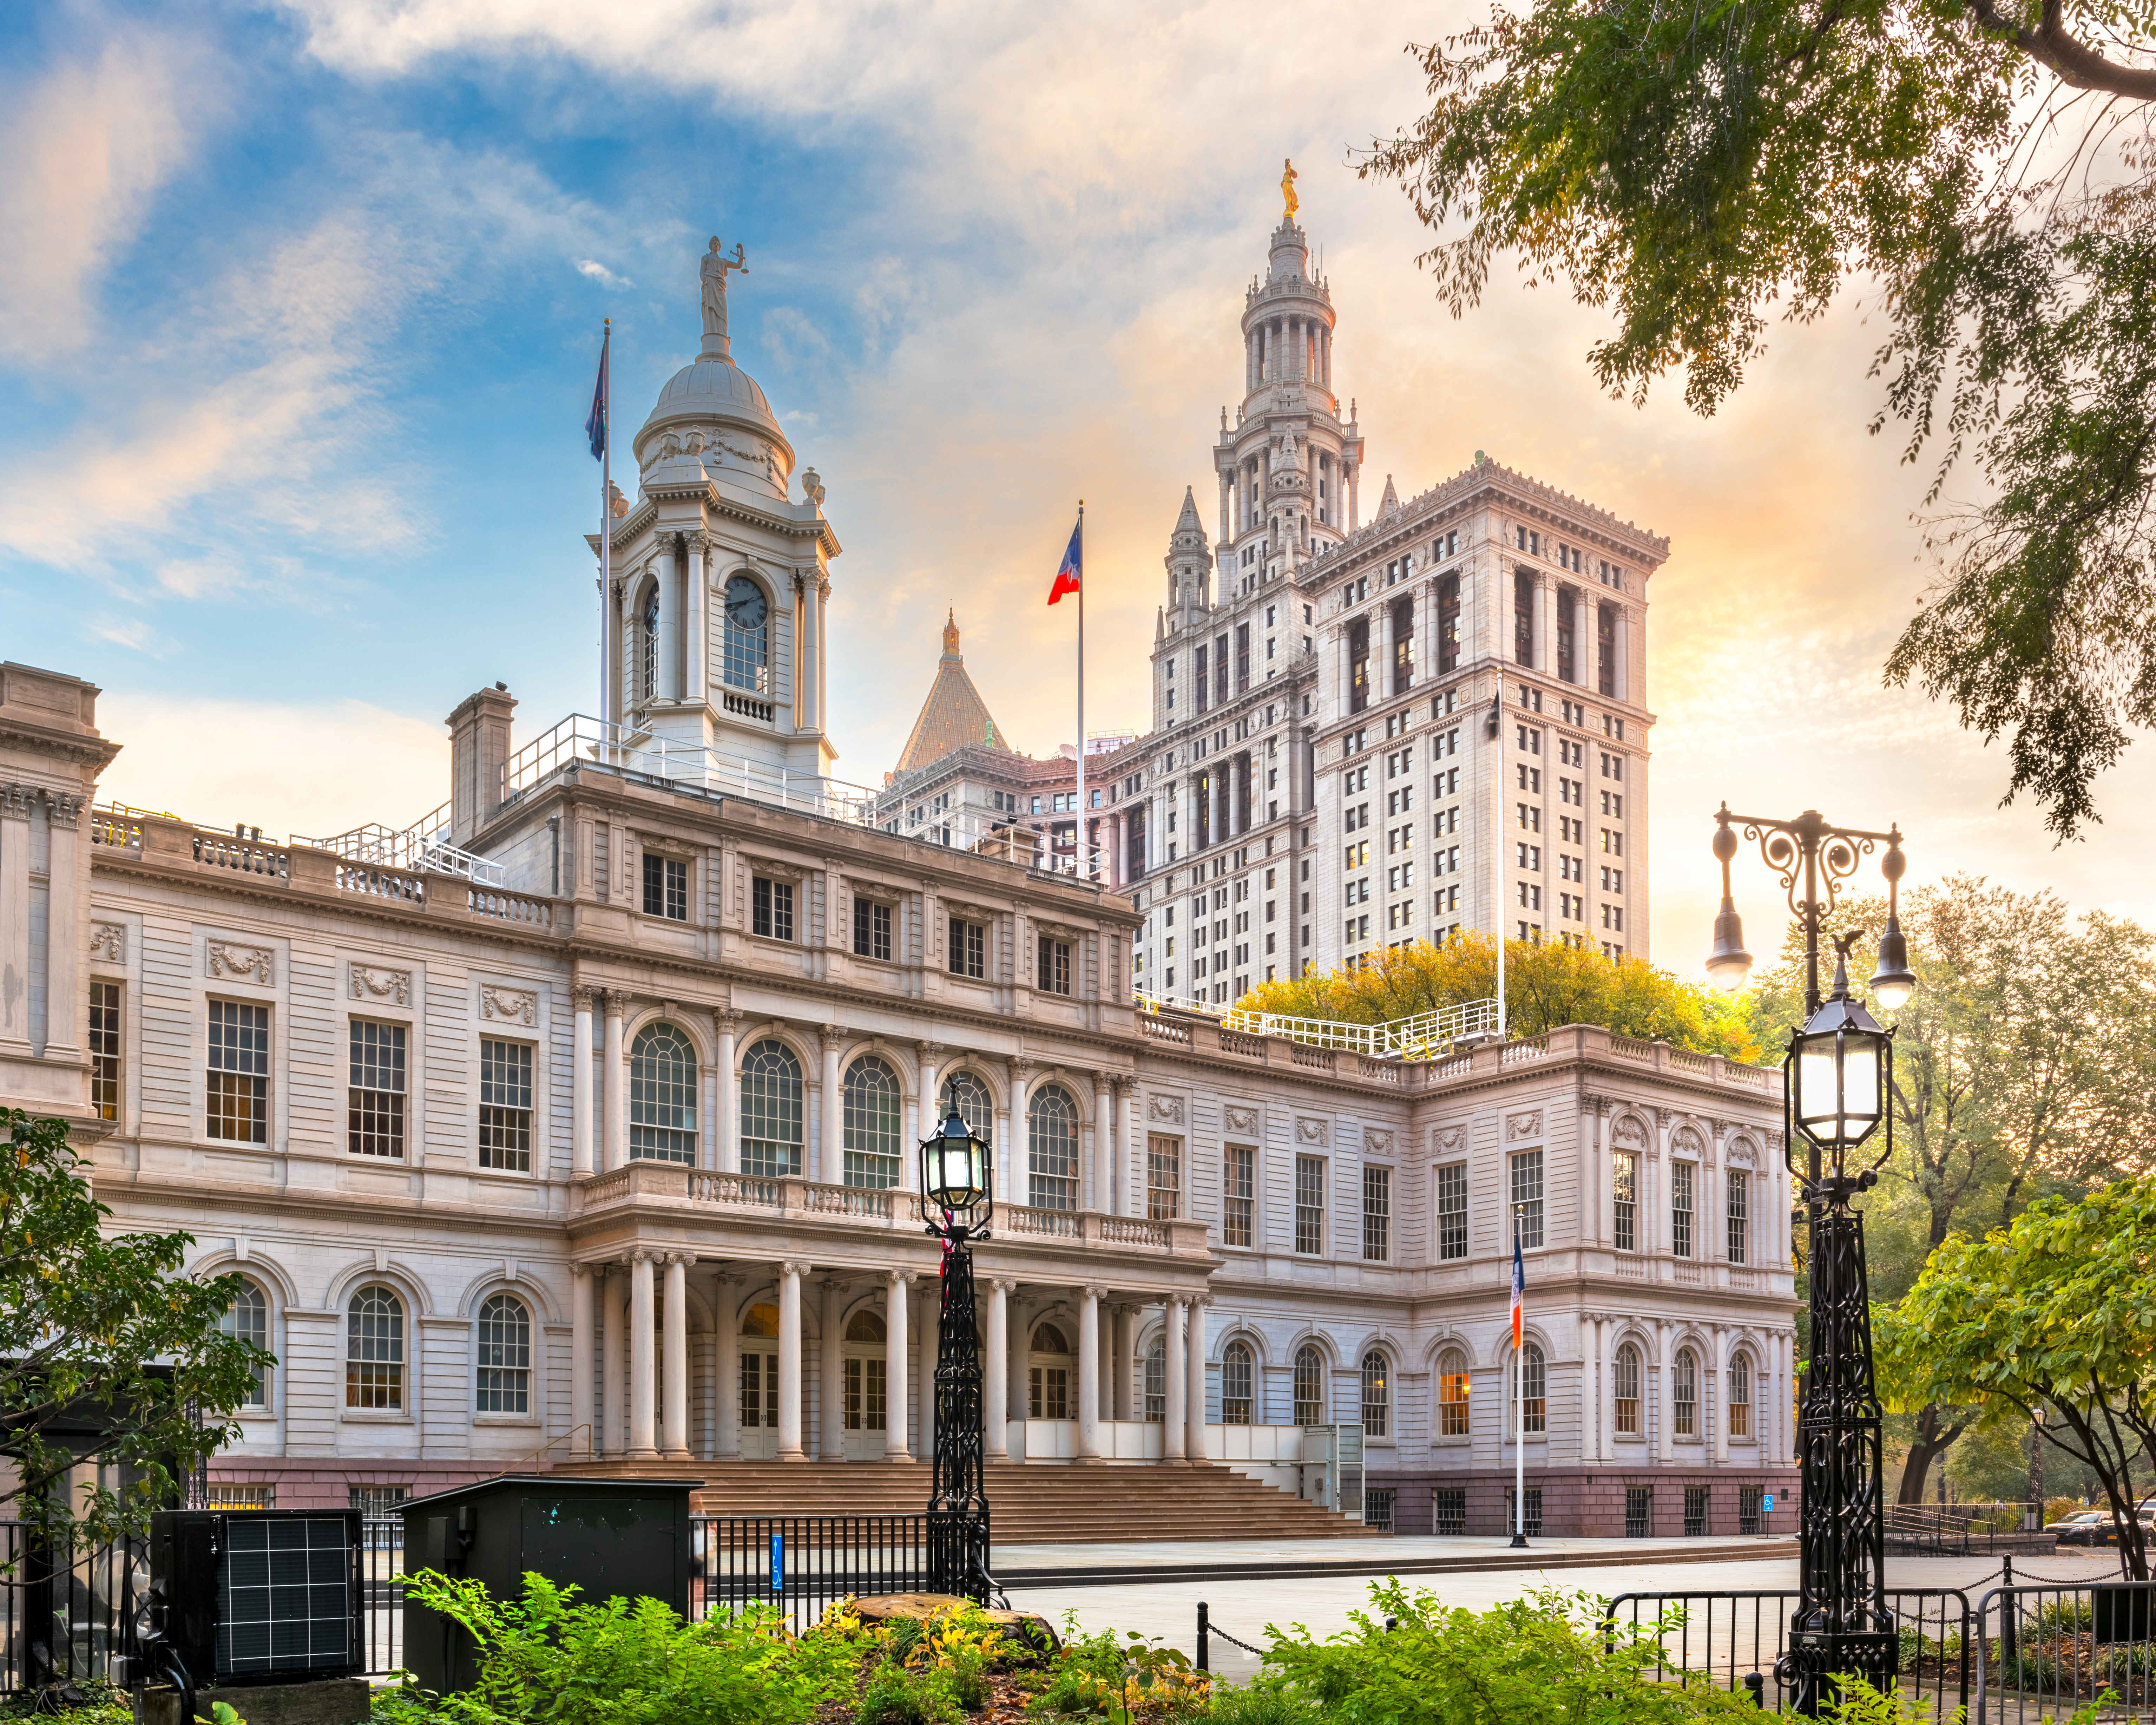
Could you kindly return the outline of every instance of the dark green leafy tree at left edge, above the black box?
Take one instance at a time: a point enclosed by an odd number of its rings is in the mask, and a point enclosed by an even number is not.
[[[250,1374],[274,1365],[218,1320],[237,1276],[181,1274],[190,1233],[106,1238],[67,1123],[0,1110],[0,1514],[56,1544],[142,1533],[179,1477],[237,1427]],[[82,1464],[121,1484],[69,1494]]]

